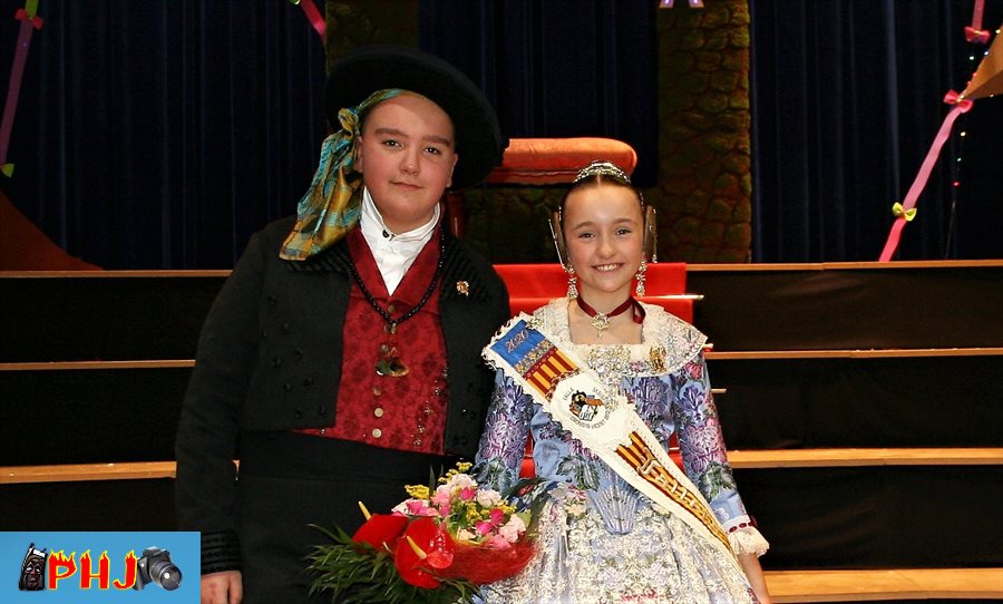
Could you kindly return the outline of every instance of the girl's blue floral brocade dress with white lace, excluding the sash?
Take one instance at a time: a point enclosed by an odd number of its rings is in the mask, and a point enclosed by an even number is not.
[[[761,555],[768,544],[750,526],[728,464],[703,359],[705,337],[661,306],[644,309],[641,344],[573,343],[566,299],[534,318],[607,389],[623,393],[663,447],[678,436],[684,470],[732,551]],[[498,371],[477,456],[481,481],[504,491],[518,480],[527,433],[542,479],[530,497],[544,498],[539,552],[519,575],[485,586],[487,604],[756,602],[727,554],[629,485]]]

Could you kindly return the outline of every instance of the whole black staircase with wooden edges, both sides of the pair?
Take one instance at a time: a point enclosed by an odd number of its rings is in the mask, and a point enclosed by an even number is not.
[[[0,530],[174,528],[226,274],[0,273]],[[686,276],[775,601],[1003,601],[1003,263]]]

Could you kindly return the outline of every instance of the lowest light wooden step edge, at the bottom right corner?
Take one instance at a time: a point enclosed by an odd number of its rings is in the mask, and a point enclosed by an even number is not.
[[[766,571],[775,603],[1001,600],[1003,568]]]

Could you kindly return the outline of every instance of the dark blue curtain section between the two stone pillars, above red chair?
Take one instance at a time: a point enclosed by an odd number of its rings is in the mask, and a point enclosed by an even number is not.
[[[605,136],[658,184],[658,1],[419,0],[421,47],[480,85],[510,138]]]

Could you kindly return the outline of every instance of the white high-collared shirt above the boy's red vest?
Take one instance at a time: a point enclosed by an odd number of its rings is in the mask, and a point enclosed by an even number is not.
[[[415,263],[415,259],[425,247],[436,231],[439,222],[439,206],[436,205],[430,221],[406,233],[393,233],[383,223],[380,211],[372,201],[368,188],[362,189],[362,214],[359,218],[359,228],[362,236],[372,251],[387,291],[392,295],[400,285],[403,275]]]

